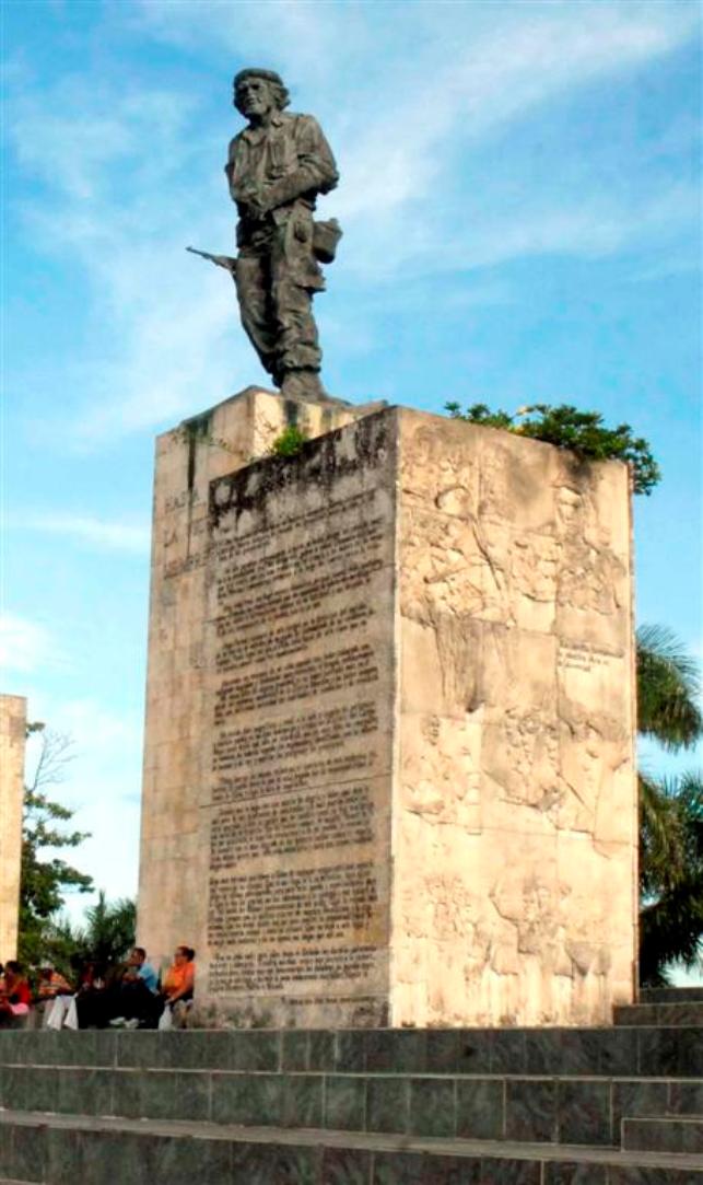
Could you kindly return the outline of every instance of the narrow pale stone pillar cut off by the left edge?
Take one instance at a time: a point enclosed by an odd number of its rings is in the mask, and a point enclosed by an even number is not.
[[[0,696],[0,961],[17,957],[27,702]]]

